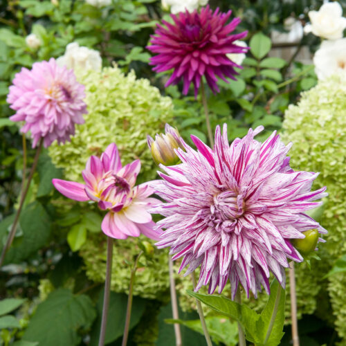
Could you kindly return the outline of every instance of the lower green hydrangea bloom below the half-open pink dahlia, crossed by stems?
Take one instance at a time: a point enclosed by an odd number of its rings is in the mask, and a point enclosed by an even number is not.
[[[140,236],[140,239],[149,241]],[[154,241],[151,241],[154,244]],[[138,238],[129,237],[114,241],[113,270],[111,290],[118,293],[129,293],[131,268],[136,256],[140,253]],[[94,282],[104,282],[106,278],[107,242],[106,237],[90,234],[80,250],[84,260],[86,276]],[[170,277],[168,272],[168,251],[155,248],[152,260],[140,257],[136,271],[134,295],[142,298],[157,299],[167,302],[170,296]]]

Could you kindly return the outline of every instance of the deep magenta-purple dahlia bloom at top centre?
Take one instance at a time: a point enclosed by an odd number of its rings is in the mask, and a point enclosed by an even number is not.
[[[163,72],[173,69],[172,76],[165,86],[177,84],[183,80],[183,93],[186,95],[190,84],[194,84],[194,95],[197,96],[201,78],[204,75],[213,93],[219,91],[217,77],[228,82],[235,80],[235,67],[238,64],[229,60],[228,53],[246,53],[247,47],[237,46],[234,42],[242,39],[247,32],[230,35],[240,22],[239,18],[226,24],[232,11],[212,12],[209,6],[201,12],[180,12],[171,15],[174,24],[163,21],[152,35],[149,51],[157,53],[151,57],[153,71]]]

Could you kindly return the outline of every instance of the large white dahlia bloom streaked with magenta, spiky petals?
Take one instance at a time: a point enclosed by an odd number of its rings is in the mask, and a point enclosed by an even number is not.
[[[158,173],[164,180],[155,190],[167,203],[152,208],[165,216],[157,246],[170,247],[173,260],[182,258],[185,275],[201,266],[196,291],[209,284],[209,293],[217,286],[221,293],[230,280],[233,298],[239,283],[255,297],[261,284],[269,293],[270,272],[284,286],[287,261],[302,261],[291,239],[311,228],[326,233],[304,214],[327,195],[325,188],[310,191],[318,174],[294,172],[286,156],[291,144],[275,132],[258,142],[262,129],[229,145],[226,124],[223,134],[217,127],[214,149],[191,136],[197,151],[185,143],[186,152],[176,149],[181,164],[161,165],[168,175]]]

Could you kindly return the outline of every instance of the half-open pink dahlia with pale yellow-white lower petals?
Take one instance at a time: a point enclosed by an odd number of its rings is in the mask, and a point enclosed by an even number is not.
[[[153,193],[149,183],[135,186],[139,171],[139,160],[122,167],[118,149],[111,143],[100,158],[89,158],[82,172],[84,184],[53,179],[53,185],[69,199],[95,201],[107,210],[101,228],[109,237],[126,239],[143,233],[159,239],[161,230],[156,230],[148,209],[160,201],[149,197]]]

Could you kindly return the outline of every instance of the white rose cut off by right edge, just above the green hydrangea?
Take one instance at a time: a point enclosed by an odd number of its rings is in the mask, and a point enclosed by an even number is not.
[[[315,72],[319,80],[331,75],[346,75],[346,38],[323,41],[313,57]]]

